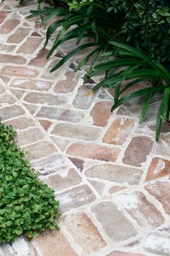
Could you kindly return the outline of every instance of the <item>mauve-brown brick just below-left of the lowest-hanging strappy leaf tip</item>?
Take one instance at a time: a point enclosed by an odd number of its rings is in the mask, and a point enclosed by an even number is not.
[[[122,162],[130,166],[142,166],[142,163],[146,162],[148,155],[151,153],[152,147],[153,141],[150,138],[146,136],[133,137],[125,150]]]

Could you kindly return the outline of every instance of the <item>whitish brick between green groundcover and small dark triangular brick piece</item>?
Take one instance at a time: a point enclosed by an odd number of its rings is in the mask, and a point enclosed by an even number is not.
[[[40,171],[42,175],[53,174],[56,171],[60,171],[70,167],[71,166],[68,158],[66,158],[64,155],[52,155],[48,158],[32,163],[32,168]]]

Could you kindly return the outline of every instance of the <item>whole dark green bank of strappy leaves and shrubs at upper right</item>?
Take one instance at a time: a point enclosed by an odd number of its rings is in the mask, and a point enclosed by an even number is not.
[[[61,2],[62,7],[60,6]],[[68,4],[69,9],[67,5],[63,5],[63,2]],[[59,5],[56,8],[43,8],[32,12],[30,15],[30,17],[41,15],[42,25],[53,17],[59,18],[48,27],[45,46],[47,46],[48,40],[55,33],[55,30],[61,27],[60,32],[53,40],[48,58],[58,46],[66,43],[66,41],[76,39],[78,46],[64,56],[51,72],[61,67],[75,54],[89,49],[89,54],[79,62],[76,70],[90,62],[86,77],[93,77],[99,72],[104,72],[104,80],[94,90],[101,86],[115,90],[115,105],[112,110],[120,106],[120,103],[140,95],[146,95],[146,99],[149,98],[149,100],[144,103],[140,121],[143,121],[153,95],[158,92],[165,92],[157,117],[156,140],[158,140],[162,121],[169,119],[169,1],[73,0],[70,2],[60,0],[57,1],[57,4]],[[88,38],[89,41],[83,43],[83,38]],[[126,51],[121,55],[122,50],[120,51],[119,47],[125,48],[125,46],[122,47],[119,43],[110,43],[112,41],[127,43],[137,50],[126,48]],[[144,59],[143,56],[145,56]],[[122,67],[128,67],[128,69],[121,72],[117,71]],[[130,82],[127,88],[133,86],[134,92],[135,85],[146,80],[155,81],[156,85],[161,86],[156,86],[154,89],[147,88],[147,90],[143,88],[139,93],[127,95],[128,98],[120,98],[122,82],[125,80],[128,82],[130,79],[135,79],[135,81]],[[123,89],[123,92],[126,92],[126,88]],[[162,114],[163,112],[164,114]]]

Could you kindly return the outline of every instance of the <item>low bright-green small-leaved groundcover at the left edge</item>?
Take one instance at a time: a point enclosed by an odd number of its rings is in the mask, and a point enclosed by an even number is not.
[[[0,243],[26,234],[29,239],[45,229],[58,228],[58,201],[42,184],[17,147],[12,126],[0,122]]]

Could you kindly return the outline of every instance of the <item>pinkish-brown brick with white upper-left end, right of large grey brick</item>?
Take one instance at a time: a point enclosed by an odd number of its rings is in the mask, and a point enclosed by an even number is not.
[[[155,229],[164,223],[164,217],[143,193],[122,194],[118,200],[144,230]]]

